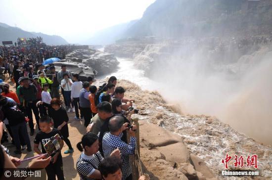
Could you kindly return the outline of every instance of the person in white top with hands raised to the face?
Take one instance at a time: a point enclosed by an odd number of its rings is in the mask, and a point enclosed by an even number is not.
[[[65,98],[65,108],[67,112],[72,111],[71,106],[71,90],[72,90],[73,81],[69,78],[68,73],[63,74],[63,80],[61,80],[60,86],[63,88],[63,96]]]

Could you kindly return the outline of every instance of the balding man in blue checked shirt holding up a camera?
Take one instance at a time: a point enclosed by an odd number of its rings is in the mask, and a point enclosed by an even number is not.
[[[122,175],[124,180],[132,180],[132,169],[130,165],[129,155],[135,154],[136,148],[136,126],[124,124],[124,118],[122,116],[114,116],[109,121],[110,132],[103,136],[102,147],[104,157],[109,157],[110,154],[115,150],[119,149],[121,154],[122,164]],[[127,144],[121,140],[123,131],[128,130],[131,135],[130,143]]]

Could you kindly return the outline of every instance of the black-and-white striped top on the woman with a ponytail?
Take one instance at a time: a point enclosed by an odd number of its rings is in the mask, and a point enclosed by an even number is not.
[[[87,156],[84,152],[79,156],[77,161],[77,171],[80,176],[80,180],[95,180],[89,178],[94,170],[97,170],[100,162],[103,161],[103,157],[98,151],[96,154]]]

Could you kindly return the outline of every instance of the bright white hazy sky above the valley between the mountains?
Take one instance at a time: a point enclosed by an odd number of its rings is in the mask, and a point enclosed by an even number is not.
[[[0,22],[78,43],[106,27],[141,18],[154,1],[0,0]]]

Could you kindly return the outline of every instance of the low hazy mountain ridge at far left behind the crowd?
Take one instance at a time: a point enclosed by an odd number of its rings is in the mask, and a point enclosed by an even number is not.
[[[4,23],[0,23],[0,44],[2,41],[17,41],[17,38],[36,38],[41,36],[46,45],[67,45],[69,44],[65,39],[56,35],[46,35],[43,33],[35,33],[24,31],[18,27],[12,27]]]

